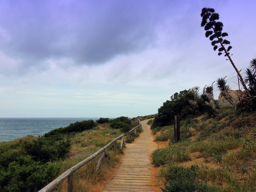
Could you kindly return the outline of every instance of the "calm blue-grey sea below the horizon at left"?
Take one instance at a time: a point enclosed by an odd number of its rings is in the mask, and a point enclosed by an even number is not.
[[[42,135],[70,123],[99,118],[0,118],[0,141],[10,141],[26,135]]]

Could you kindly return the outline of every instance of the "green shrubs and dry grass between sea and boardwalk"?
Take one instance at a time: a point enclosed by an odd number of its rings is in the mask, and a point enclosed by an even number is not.
[[[126,120],[125,124],[120,124],[122,120]],[[128,127],[137,125],[137,122],[128,117],[109,121],[113,127],[110,123],[100,124],[87,120],[71,123],[67,127],[60,127],[42,136],[28,135],[14,141],[0,142],[0,190],[38,191],[68,168],[125,133]],[[131,134],[131,137],[134,138],[138,134]],[[111,168],[118,164],[118,156],[123,153],[120,149],[115,151],[113,146],[106,152],[109,157],[105,159],[98,172],[95,172],[97,159],[93,159],[74,174],[76,191],[89,191],[99,180],[106,179]],[[66,184],[64,182],[56,190],[65,191]]]

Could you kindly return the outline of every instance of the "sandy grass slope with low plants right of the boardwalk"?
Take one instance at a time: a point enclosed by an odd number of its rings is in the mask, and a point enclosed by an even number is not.
[[[154,165],[162,167],[162,190],[255,192],[255,117],[256,113],[236,114],[231,109],[222,109],[215,119],[190,117],[180,123],[178,143],[172,126],[155,128],[156,140],[170,138],[152,157]]]

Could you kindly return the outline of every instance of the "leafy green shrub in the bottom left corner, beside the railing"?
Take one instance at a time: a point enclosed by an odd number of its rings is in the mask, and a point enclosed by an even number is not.
[[[3,192],[37,191],[53,180],[60,167],[53,163],[41,164],[30,155],[21,155],[0,172]]]

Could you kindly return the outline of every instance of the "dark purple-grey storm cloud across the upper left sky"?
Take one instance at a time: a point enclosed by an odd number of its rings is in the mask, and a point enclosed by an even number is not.
[[[68,57],[90,65],[143,50],[154,42],[164,6],[136,2],[2,1],[1,51],[30,62]]]

